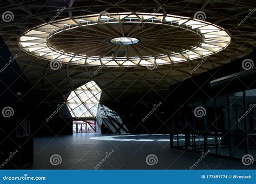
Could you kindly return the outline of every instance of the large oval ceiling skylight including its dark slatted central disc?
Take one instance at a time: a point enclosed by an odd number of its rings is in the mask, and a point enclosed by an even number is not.
[[[230,41],[223,28],[203,20],[128,12],[39,25],[19,38],[19,46],[39,58],[74,65],[147,66],[203,58]]]

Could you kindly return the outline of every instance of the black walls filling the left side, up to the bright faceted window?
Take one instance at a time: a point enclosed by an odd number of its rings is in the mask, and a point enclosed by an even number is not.
[[[2,39],[0,46],[0,169],[23,168],[33,162],[33,137],[71,134],[72,117],[64,104],[41,103],[45,96],[26,80],[19,55],[13,56]]]

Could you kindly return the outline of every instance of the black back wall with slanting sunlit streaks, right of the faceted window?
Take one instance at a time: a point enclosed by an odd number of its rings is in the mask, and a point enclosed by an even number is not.
[[[169,133],[166,104],[107,103],[102,113],[102,133]],[[116,123],[118,122],[118,123]],[[110,127],[110,125],[112,125]],[[114,127],[114,128],[113,128]]]

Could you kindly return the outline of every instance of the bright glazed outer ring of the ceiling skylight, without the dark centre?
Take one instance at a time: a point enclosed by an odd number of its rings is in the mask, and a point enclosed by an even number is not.
[[[108,17],[108,18],[107,18]],[[57,20],[51,24],[37,26],[19,37],[19,46],[27,53],[46,60],[57,59],[64,63],[74,65],[92,66],[147,66],[164,65],[173,62],[184,62],[193,59],[203,58],[225,49],[231,43],[230,34],[223,28],[198,20],[195,18],[164,15],[163,13],[109,13],[104,17],[105,22],[99,21],[100,15],[88,15],[83,17],[66,18]],[[133,21],[131,21],[131,19]],[[76,21],[74,21],[76,20]],[[137,21],[134,21],[137,20]],[[159,22],[160,21],[160,22]],[[163,24],[181,27],[200,34],[201,43],[192,46],[190,49],[183,49],[179,52],[163,53],[158,55],[146,55],[137,57],[110,57],[93,55],[75,55],[56,50],[48,43],[48,39],[60,32],[76,29],[80,26],[111,23],[138,23],[138,24]],[[37,44],[34,44],[37,43]],[[95,64],[97,63],[97,64]]]

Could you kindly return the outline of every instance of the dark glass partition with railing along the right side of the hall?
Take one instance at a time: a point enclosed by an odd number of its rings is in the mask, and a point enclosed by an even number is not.
[[[205,116],[195,114],[198,107]],[[173,110],[173,147],[256,159],[256,89],[173,105]]]

